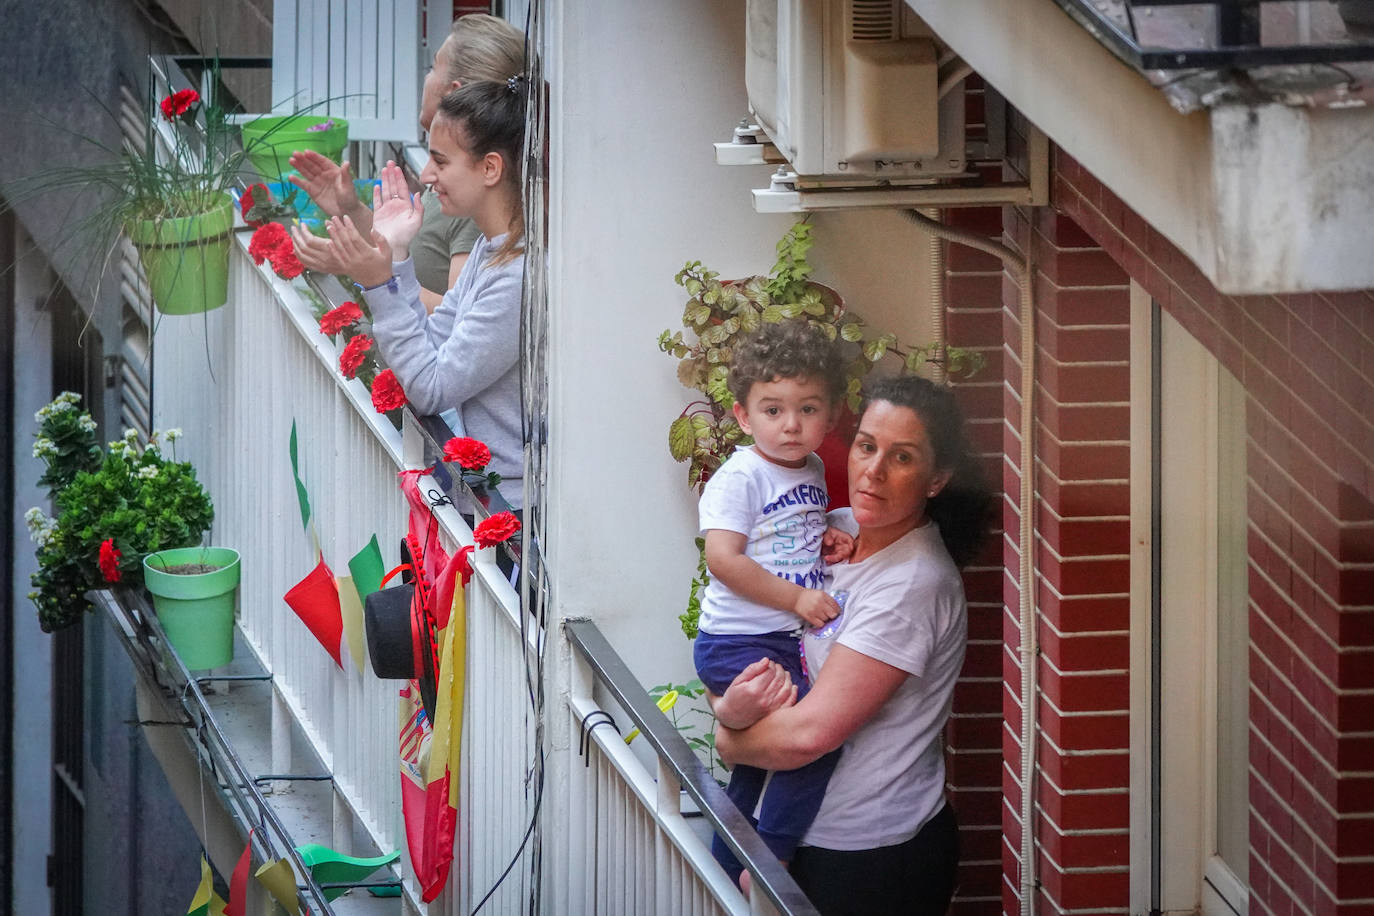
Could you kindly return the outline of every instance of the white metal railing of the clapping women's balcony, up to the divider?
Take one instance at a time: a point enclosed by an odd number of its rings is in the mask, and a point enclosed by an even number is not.
[[[291,717],[334,775],[339,842],[363,827],[383,850],[404,849],[397,758],[397,681],[344,667],[282,596],[316,563],[302,530],[289,459],[293,422],[315,531],[335,575],[375,533],[394,562],[408,505],[397,471],[419,467],[422,438],[378,415],[367,390],[337,371],[338,346],[322,335],[304,287],[253,265],[240,235],[231,260],[229,304],[195,317],[165,319],[155,331],[154,422],[181,427],[177,457],[190,457],[210,492],[210,537],[242,555],[239,626],[273,676],[272,770],[291,770]],[[437,489],[422,478],[420,490]],[[452,505],[436,508],[445,549],[471,544]],[[462,805],[449,890],[430,913],[470,912],[521,847],[530,820],[526,772],[533,758],[522,659],[519,602],[495,564],[474,555],[467,589],[469,689],[463,729]],[[529,630],[529,628],[525,628]],[[408,861],[408,860],[407,860]],[[407,869],[408,871],[408,869]],[[488,904],[521,909],[521,868]],[[412,882],[412,904],[418,902]],[[425,908],[420,908],[422,912]]]

